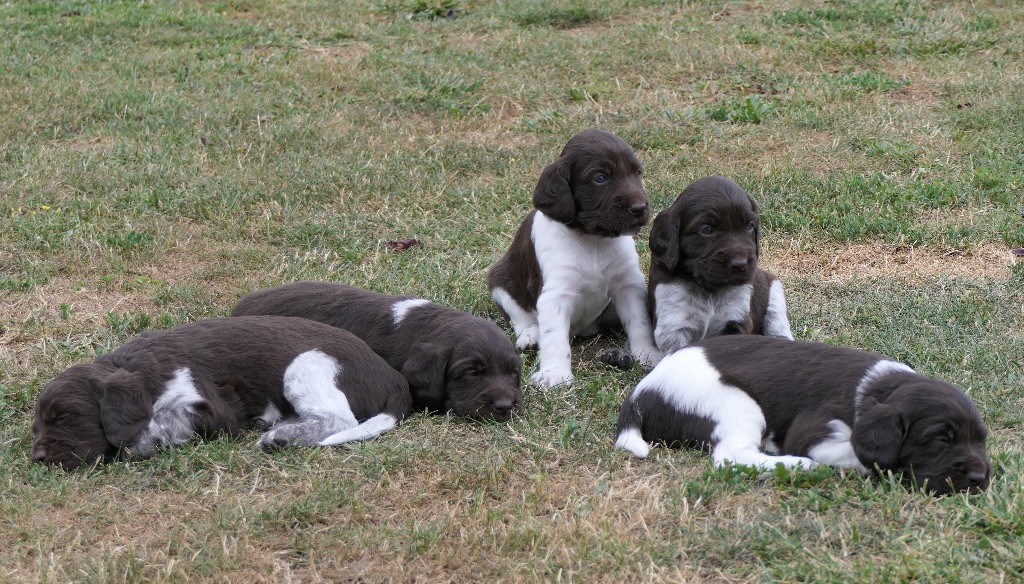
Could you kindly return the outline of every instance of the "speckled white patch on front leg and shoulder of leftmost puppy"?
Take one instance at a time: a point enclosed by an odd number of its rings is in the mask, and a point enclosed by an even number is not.
[[[184,444],[196,435],[193,416],[196,406],[203,403],[191,371],[182,367],[164,385],[164,391],[153,405],[150,424],[129,447],[129,456],[147,458],[157,448]]]

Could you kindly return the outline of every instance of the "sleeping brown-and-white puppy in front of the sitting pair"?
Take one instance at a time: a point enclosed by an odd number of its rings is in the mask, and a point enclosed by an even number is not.
[[[902,472],[937,495],[988,487],[988,430],[959,388],[887,357],[733,335],[672,353],[623,404],[615,446],[710,445],[716,465]]]

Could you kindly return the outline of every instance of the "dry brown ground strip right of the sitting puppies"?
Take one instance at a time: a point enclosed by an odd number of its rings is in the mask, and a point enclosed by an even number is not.
[[[815,278],[833,282],[892,279],[921,281],[939,278],[997,280],[1010,276],[1016,258],[1002,245],[986,244],[971,251],[939,251],[895,244],[852,244],[801,249],[799,243],[774,247],[765,266],[780,278]]]

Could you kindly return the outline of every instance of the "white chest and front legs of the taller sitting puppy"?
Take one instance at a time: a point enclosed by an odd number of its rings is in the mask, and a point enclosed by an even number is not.
[[[602,238],[583,234],[538,212],[530,239],[543,281],[532,315],[532,322],[539,326],[541,364],[531,377],[535,384],[550,387],[571,379],[569,340],[593,324],[612,300],[626,329],[630,352],[647,366],[660,361],[647,315],[646,283],[632,236]],[[502,306],[511,320],[513,311],[506,304]],[[519,311],[526,312],[521,308]],[[512,326],[527,331],[529,325],[523,319],[518,325],[513,320]]]

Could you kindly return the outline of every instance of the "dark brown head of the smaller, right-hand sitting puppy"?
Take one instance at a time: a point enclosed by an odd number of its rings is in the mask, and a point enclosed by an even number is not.
[[[757,269],[760,232],[754,199],[732,180],[709,176],[654,218],[651,256],[703,288],[745,284]]]

